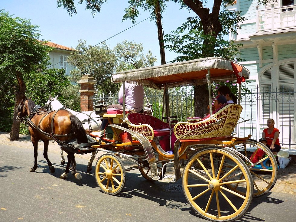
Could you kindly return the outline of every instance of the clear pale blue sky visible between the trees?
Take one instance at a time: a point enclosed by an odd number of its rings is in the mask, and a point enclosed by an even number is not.
[[[66,9],[57,8],[56,0],[0,0],[0,9],[8,11],[14,17],[31,19],[31,24],[39,26],[41,39],[75,48],[79,39],[86,40],[87,45],[96,45],[131,27],[133,24],[130,20],[122,22],[124,9],[128,6],[127,2],[127,0],[109,0],[107,4],[102,5],[101,12],[94,18],[91,11],[85,10],[85,5],[76,5],[77,15],[71,18]],[[213,0],[209,2],[213,4]],[[164,34],[176,30],[186,18],[196,16],[194,12],[181,10],[180,5],[174,2],[169,2],[167,6],[162,19]],[[150,17],[149,11],[141,11],[137,22],[148,17]],[[107,40],[106,43],[114,47],[125,39],[142,43],[144,53],[150,49],[158,59],[155,65],[161,64],[157,27],[150,19]],[[167,62],[176,57],[174,52],[166,50],[165,53]]]

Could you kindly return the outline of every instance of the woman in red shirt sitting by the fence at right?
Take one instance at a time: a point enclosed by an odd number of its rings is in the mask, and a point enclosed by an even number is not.
[[[271,151],[276,154],[281,149],[280,141],[278,136],[280,135],[280,131],[274,127],[275,121],[273,119],[267,120],[267,127],[262,132],[262,138],[265,138],[267,141],[267,147],[271,149]]]

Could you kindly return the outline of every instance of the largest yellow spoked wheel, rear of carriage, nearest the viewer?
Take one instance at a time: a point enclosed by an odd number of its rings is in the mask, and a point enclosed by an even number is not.
[[[253,180],[246,164],[224,148],[210,147],[193,155],[184,168],[182,183],[191,207],[212,221],[240,218],[253,197]],[[226,184],[238,184],[236,189],[243,194]]]

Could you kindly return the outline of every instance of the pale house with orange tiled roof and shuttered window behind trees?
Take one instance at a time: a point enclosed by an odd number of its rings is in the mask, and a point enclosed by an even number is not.
[[[54,42],[47,42],[45,44],[54,48],[54,50],[49,53],[50,65],[48,66],[48,68],[63,68],[66,71],[66,75],[70,75],[70,71],[73,70],[75,67],[70,65],[67,59],[73,51],[73,48],[59,45]]]

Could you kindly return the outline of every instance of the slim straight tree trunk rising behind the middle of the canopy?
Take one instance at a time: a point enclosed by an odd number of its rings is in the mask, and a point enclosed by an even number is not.
[[[156,16],[157,34],[158,34],[159,49],[160,49],[160,59],[161,59],[161,64],[164,65],[165,64],[164,39],[163,39],[163,33],[162,33],[159,1],[156,1],[156,4],[155,4],[155,16]],[[169,101],[168,88],[165,89],[164,104],[165,104],[165,115],[170,116],[170,101]]]

